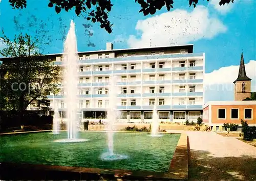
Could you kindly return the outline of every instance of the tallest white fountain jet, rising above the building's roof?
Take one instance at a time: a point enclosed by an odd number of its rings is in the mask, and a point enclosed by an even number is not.
[[[77,139],[78,109],[77,109],[77,84],[78,84],[78,56],[75,34],[75,23],[71,20],[70,29],[64,43],[65,74],[65,102],[67,104],[68,139],[55,140],[56,142],[81,142],[86,139]]]

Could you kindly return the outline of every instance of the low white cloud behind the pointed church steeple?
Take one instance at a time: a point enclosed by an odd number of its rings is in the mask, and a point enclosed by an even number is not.
[[[245,64],[246,75],[251,79],[251,92],[256,92],[256,61]],[[233,82],[238,77],[239,66],[222,67],[205,73],[205,103],[212,100],[233,100]]]

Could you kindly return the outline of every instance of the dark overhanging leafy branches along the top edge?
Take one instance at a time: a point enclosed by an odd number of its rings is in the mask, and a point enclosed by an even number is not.
[[[111,7],[113,4],[111,0],[49,0],[49,7],[55,7],[56,13],[60,13],[61,9],[65,11],[69,11],[70,9],[75,9],[76,15],[80,15],[81,13],[86,13],[92,7],[93,10],[88,13],[88,20],[100,23],[100,28],[104,28],[108,33],[112,32],[112,25],[108,20],[108,13],[111,11]],[[143,12],[145,16],[148,14],[155,14],[157,10],[161,10],[164,6],[167,11],[170,11],[171,8],[174,8],[174,2],[178,0],[135,0],[135,3],[138,3],[141,6],[141,10],[139,12]],[[200,0],[188,0],[189,7],[193,5],[195,8]],[[201,2],[204,0],[201,0]],[[210,0],[206,0],[209,2]],[[234,0],[219,0],[219,5],[229,4],[230,2],[234,2]],[[184,1],[186,2],[186,1]],[[9,0],[10,5],[14,9],[23,9],[27,7],[26,0]]]

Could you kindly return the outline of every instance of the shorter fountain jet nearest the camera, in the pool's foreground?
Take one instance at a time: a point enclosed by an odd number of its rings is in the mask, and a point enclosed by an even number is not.
[[[116,77],[111,77],[110,88],[109,88],[109,108],[107,113],[108,125],[106,127],[108,133],[108,152],[103,153],[101,155],[102,160],[120,160],[126,159],[127,156],[123,156],[120,154],[114,154],[114,124],[117,122],[117,113],[116,110]]]

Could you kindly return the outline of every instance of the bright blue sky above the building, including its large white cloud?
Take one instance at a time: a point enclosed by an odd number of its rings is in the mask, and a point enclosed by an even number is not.
[[[74,11],[62,11],[56,14],[54,8],[47,7],[48,1],[45,0],[30,0],[27,8],[23,10],[13,10],[8,1],[3,0],[0,3],[0,28],[4,28],[5,33],[10,37],[19,33],[15,28],[14,17],[16,17],[19,25],[24,24],[23,32],[35,35],[38,26],[31,28],[28,23],[32,22],[32,17],[36,17],[37,22],[40,20],[46,22],[45,28],[49,30],[49,35],[53,39],[51,44],[45,47],[44,53],[47,54],[61,53],[63,41],[56,39],[61,39],[67,33],[70,19],[76,24],[79,51],[105,49],[105,42],[113,42],[114,48],[193,43],[194,52],[205,53],[207,76],[216,77],[214,75],[218,72],[214,70],[219,71],[222,67],[230,68],[230,66],[234,69],[238,68],[232,65],[239,65],[242,49],[245,63],[256,60],[256,1],[236,0],[234,4],[225,7],[220,7],[218,2],[219,0],[210,0],[209,3],[204,1],[194,9],[189,8],[187,1],[176,0],[172,11],[167,12],[163,8],[155,15],[145,17],[142,13],[138,13],[140,6],[135,4],[134,0],[115,0],[112,1],[114,6],[109,14],[110,21],[114,23],[113,32],[109,34],[104,29],[100,29],[98,23],[92,23],[82,16],[77,17]],[[84,35],[86,29],[83,24],[88,23],[92,25],[90,31],[93,32],[90,39],[88,35]],[[88,46],[89,41],[95,46]],[[255,65],[254,62],[252,64]],[[251,79],[254,78],[254,72],[252,70]],[[222,74],[222,76],[230,75],[225,73],[226,75]],[[221,84],[222,81],[221,79]],[[210,94],[212,93],[208,93],[207,100],[212,100]],[[230,100],[233,94],[229,93],[228,98],[223,93],[218,95],[216,93],[213,99],[223,98]]]

